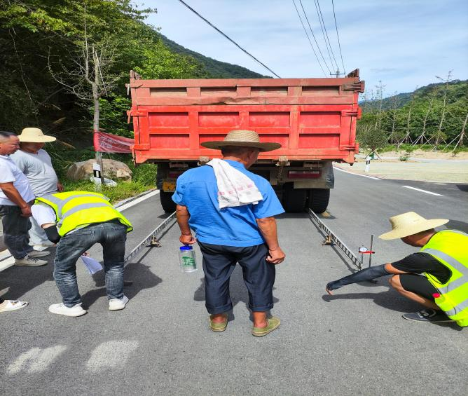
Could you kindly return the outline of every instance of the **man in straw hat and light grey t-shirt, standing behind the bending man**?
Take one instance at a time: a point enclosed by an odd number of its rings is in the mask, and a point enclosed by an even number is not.
[[[46,142],[54,142],[53,136],[44,135],[39,128],[25,128],[22,130],[20,149],[11,155],[11,159],[26,175],[34,196],[41,197],[63,191],[63,186],[57,179],[52,161],[47,151],[43,150]],[[29,237],[32,245],[53,246],[47,239],[46,233],[37,224],[34,217],[30,217],[31,228]]]

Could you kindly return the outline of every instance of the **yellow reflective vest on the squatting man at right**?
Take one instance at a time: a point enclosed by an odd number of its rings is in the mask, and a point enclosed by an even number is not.
[[[430,254],[450,270],[446,283],[439,282],[429,273],[425,275],[441,294],[435,299],[439,308],[458,325],[468,326],[468,234],[455,230],[439,231],[420,252]]]

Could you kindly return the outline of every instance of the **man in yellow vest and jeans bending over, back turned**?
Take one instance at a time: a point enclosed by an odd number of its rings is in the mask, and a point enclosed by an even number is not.
[[[88,191],[49,194],[36,198],[32,214],[48,239],[57,243],[54,278],[62,303],[51,305],[49,312],[66,316],[86,313],[76,283],[76,261],[95,243],[103,247],[109,310],[125,308],[128,302],[123,294],[125,240],[133,228],[113,208],[109,198]]]

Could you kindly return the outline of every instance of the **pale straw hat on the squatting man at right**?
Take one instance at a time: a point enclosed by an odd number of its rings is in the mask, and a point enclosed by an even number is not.
[[[430,230],[448,223],[448,219],[425,219],[415,212],[399,214],[398,216],[390,217],[392,231],[380,235],[378,238],[390,240],[404,238],[408,235],[414,235],[421,231]]]

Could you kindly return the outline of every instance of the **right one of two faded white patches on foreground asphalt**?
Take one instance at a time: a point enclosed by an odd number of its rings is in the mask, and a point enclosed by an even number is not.
[[[123,368],[137,348],[138,341],[106,341],[92,351],[86,367],[91,371]]]

